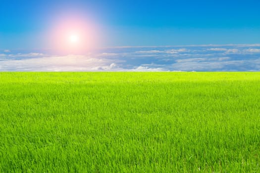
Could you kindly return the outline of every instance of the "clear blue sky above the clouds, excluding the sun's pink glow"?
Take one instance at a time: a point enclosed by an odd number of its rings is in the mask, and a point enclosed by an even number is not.
[[[1,0],[0,48],[51,48],[53,22],[75,13],[99,24],[107,38],[100,46],[259,43],[259,7],[259,0]]]

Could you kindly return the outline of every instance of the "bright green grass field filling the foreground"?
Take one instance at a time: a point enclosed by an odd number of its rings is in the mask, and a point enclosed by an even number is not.
[[[259,164],[260,73],[0,73],[0,173]]]

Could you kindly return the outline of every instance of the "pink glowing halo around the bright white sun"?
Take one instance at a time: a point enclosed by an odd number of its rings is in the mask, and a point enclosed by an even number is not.
[[[59,53],[84,53],[101,42],[98,25],[79,17],[62,18],[51,33],[52,49]]]

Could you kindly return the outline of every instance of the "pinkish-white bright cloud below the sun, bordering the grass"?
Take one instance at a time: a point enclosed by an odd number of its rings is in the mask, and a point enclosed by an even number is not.
[[[108,59],[83,55],[36,57],[1,61],[1,71],[92,71],[95,67],[115,67]]]

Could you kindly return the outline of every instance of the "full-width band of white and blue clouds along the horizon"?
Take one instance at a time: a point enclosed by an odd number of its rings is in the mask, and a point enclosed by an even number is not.
[[[260,44],[106,47],[87,55],[3,50],[0,71],[260,71]]]

